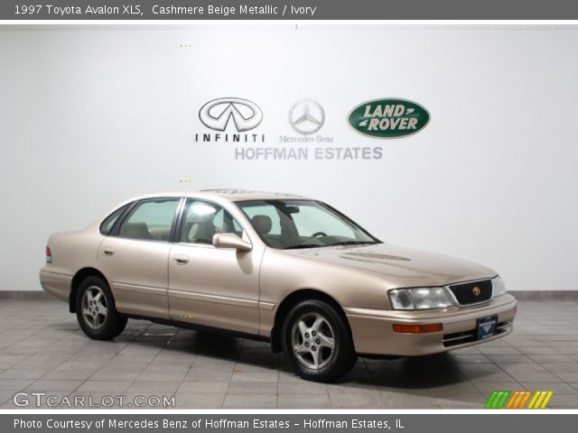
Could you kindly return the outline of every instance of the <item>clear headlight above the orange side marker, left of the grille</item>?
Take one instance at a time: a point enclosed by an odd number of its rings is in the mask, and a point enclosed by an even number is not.
[[[443,287],[394,289],[389,290],[387,296],[392,309],[444,309],[454,305]]]

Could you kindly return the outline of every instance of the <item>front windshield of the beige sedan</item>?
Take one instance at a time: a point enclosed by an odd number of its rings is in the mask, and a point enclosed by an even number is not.
[[[263,242],[272,248],[380,243],[350,218],[319,201],[251,200],[237,205]]]

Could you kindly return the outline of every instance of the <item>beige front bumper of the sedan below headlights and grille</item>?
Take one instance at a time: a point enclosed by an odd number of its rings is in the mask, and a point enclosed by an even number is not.
[[[439,354],[507,336],[513,330],[517,301],[506,294],[471,307],[423,311],[344,310],[359,355],[415,356]],[[498,318],[496,333],[479,340],[478,320],[490,316]],[[442,324],[443,330],[422,334],[398,333],[393,329],[396,324]]]

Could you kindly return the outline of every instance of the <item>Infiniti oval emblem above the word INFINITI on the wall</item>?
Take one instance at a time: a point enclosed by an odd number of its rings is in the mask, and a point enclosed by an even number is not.
[[[233,123],[239,133],[256,128],[263,120],[261,108],[254,102],[238,97],[213,99],[199,110],[200,122],[210,129],[225,131],[228,122]]]

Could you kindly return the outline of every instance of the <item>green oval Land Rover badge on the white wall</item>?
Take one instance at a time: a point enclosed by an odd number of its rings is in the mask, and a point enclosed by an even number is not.
[[[430,114],[406,99],[375,99],[353,108],[348,117],[358,133],[376,138],[415,134],[430,121]]]

